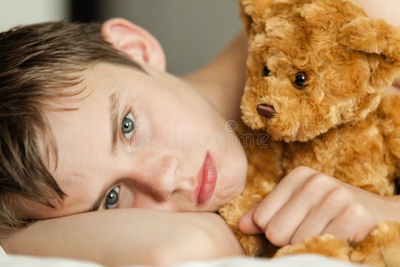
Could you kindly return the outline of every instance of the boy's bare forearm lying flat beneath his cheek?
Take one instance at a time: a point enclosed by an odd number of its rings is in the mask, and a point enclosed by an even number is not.
[[[243,253],[215,213],[133,208],[39,220],[0,243],[7,253],[78,258],[107,266],[166,265]]]

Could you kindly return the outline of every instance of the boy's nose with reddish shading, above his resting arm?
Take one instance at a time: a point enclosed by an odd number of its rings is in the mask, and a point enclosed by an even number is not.
[[[135,185],[157,201],[167,201],[176,187],[177,160],[171,155],[144,159],[136,170]]]

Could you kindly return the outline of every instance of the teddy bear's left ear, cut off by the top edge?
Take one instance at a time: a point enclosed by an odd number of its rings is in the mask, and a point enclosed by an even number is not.
[[[238,0],[240,17],[248,32],[252,23],[258,23],[266,10],[273,7],[272,0]]]

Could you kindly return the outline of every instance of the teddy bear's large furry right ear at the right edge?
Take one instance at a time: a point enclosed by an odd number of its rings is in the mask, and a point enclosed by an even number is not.
[[[360,16],[339,29],[338,42],[377,58],[371,64],[372,85],[390,84],[400,74],[400,29],[384,19]]]

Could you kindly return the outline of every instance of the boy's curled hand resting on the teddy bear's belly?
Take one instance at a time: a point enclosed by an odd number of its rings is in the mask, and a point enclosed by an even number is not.
[[[264,232],[277,246],[325,233],[357,243],[378,222],[398,220],[393,199],[300,166],[240,218],[239,229],[246,234]]]

